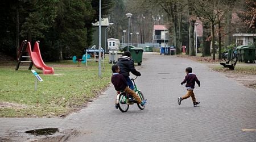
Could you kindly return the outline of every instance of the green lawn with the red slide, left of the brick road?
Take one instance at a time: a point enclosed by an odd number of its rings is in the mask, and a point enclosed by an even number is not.
[[[0,105],[13,103],[23,107],[2,107],[0,117],[55,117],[67,115],[81,108],[90,99],[100,94],[110,83],[111,64],[101,64],[102,76],[98,77],[98,62],[89,61],[88,67],[77,67],[72,61],[48,62],[54,75],[44,75],[35,91],[35,77],[27,70],[15,70],[15,62],[0,64]]]

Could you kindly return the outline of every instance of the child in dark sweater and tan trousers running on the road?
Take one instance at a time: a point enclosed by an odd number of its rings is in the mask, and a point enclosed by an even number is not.
[[[180,105],[180,103],[183,99],[187,99],[187,98],[191,97],[192,101],[193,101],[193,105],[196,106],[200,102],[196,102],[196,98],[195,98],[195,94],[193,93],[193,90],[195,89],[195,82],[200,87],[200,81],[197,79],[196,74],[192,74],[191,67],[186,68],[185,72],[187,73],[187,76],[185,76],[185,79],[183,82],[181,82],[181,85],[183,85],[184,83],[187,82],[186,83],[187,94],[185,94],[183,97],[178,98],[178,104]]]

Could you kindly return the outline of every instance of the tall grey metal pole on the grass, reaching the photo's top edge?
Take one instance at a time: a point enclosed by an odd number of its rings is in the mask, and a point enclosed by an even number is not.
[[[98,77],[101,77],[101,0],[98,15]]]

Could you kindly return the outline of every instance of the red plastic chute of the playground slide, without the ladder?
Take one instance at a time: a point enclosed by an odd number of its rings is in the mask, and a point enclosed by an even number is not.
[[[31,50],[30,42],[28,42],[27,52],[30,54],[31,60],[35,67],[38,69],[42,69],[43,74],[54,74],[54,69],[44,64],[44,61],[41,57],[38,41],[35,42],[33,51]]]

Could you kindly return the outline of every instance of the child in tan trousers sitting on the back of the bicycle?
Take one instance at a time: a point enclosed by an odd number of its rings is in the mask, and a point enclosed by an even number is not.
[[[130,94],[131,96],[133,96],[133,98],[141,105],[141,106],[145,106],[147,103],[147,99],[141,100],[141,98],[138,97],[138,95],[131,90],[128,85],[127,82],[125,80],[125,77],[123,77],[122,74],[119,74],[120,72],[120,68],[118,65],[113,65],[112,66],[112,72],[113,72],[113,76],[111,78],[111,82],[113,83],[115,90],[117,91],[125,91],[126,93]],[[115,108],[117,109],[117,106],[115,106]]]

